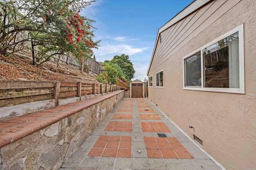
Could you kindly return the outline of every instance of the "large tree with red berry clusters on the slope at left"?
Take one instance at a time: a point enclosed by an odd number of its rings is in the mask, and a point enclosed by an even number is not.
[[[0,3],[0,53],[22,50],[30,42],[33,64],[59,54],[73,53],[77,59],[92,56],[91,49],[99,42],[92,41],[92,20],[79,14],[79,10],[91,3],[84,0]]]

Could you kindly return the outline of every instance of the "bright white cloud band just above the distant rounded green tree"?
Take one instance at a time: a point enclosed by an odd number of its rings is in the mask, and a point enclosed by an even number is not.
[[[133,47],[131,45],[119,44],[119,45],[101,45],[98,49],[94,50],[96,55],[108,55],[108,54],[127,54],[133,55],[147,50],[148,47]]]

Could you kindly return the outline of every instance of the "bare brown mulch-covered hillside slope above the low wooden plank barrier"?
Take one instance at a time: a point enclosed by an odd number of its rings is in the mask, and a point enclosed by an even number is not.
[[[8,57],[0,55],[0,80],[50,80],[62,82],[97,82],[95,75],[59,64],[45,62],[42,66],[33,66],[29,58],[21,58],[18,55]]]

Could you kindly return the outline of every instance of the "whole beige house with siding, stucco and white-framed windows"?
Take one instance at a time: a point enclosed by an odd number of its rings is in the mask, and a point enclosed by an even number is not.
[[[158,30],[149,101],[227,169],[256,169],[256,1],[197,0]]]

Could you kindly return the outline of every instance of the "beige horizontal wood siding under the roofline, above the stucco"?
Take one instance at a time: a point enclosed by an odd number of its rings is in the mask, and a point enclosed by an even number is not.
[[[183,18],[170,28],[164,30],[161,33],[162,43],[157,43],[150,72],[156,72],[161,69],[161,64],[240,1],[241,0],[211,1],[201,7],[201,9],[194,11],[186,18]],[[191,51],[194,50],[196,49]]]

